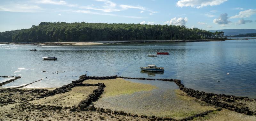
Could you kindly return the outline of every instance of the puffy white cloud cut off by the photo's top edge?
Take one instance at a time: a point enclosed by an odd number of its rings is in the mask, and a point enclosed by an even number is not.
[[[178,7],[195,7],[201,8],[205,6],[220,5],[228,0],[179,0],[176,3]]]

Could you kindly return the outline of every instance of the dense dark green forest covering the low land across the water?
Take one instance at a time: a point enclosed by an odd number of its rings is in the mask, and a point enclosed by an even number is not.
[[[223,35],[185,25],[41,22],[29,29],[0,32],[0,42],[211,39]]]

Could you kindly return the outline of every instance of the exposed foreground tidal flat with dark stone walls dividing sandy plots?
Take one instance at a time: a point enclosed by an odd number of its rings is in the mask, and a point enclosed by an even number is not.
[[[256,119],[256,100],[215,94],[220,108],[182,91],[179,80],[127,78],[82,75],[58,88],[0,88],[0,120]]]

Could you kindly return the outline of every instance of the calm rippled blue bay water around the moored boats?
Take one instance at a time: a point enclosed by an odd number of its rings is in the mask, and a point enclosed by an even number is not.
[[[36,52],[29,51],[34,48]],[[156,52],[170,55],[147,56]],[[55,56],[58,60],[43,60],[45,56]],[[27,87],[59,87],[87,73],[180,79],[186,87],[199,91],[256,98],[256,39],[94,46],[1,44],[0,63],[0,75],[22,76],[3,87],[39,79],[43,80]],[[148,64],[164,67],[164,74],[141,72],[139,67]],[[63,73],[52,74],[57,71]]]

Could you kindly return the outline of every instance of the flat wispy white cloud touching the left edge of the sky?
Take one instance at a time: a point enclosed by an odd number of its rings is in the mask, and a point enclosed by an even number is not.
[[[28,5],[28,4],[12,4],[0,6],[0,11],[9,11],[9,12],[38,12],[42,10],[37,5]]]

